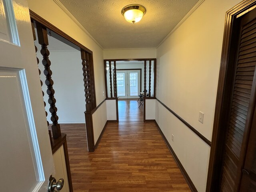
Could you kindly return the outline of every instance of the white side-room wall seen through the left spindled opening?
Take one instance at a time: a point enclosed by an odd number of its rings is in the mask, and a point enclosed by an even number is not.
[[[49,48],[51,42],[49,40]],[[44,66],[42,65],[42,55],[38,51],[39,68],[41,70],[40,78],[45,81]],[[57,115],[59,123],[85,123],[85,96],[84,81],[81,64],[81,54],[78,50],[70,51],[50,51],[49,59],[51,61],[54,97],[56,99]],[[46,102],[46,111],[48,112],[47,120],[50,120],[50,104],[48,104],[47,86],[42,86],[44,91],[44,101]]]

